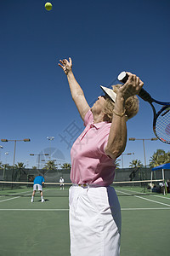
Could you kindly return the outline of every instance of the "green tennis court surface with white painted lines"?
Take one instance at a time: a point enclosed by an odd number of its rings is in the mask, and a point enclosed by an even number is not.
[[[70,255],[68,189],[45,187],[44,203],[38,192],[31,203],[31,186],[0,190],[0,255]],[[137,187],[116,191],[122,207],[121,256],[169,255],[170,194]]]

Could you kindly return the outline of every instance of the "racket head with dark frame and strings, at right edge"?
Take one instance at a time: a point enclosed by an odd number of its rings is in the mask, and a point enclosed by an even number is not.
[[[170,144],[170,105],[162,107],[156,114],[153,131],[162,143]]]

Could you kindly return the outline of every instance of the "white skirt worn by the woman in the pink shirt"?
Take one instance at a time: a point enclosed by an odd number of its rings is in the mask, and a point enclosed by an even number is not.
[[[112,187],[69,191],[71,256],[119,256],[121,207]]]

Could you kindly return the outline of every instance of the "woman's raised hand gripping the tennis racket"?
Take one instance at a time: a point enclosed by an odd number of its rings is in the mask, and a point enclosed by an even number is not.
[[[119,92],[122,93],[125,100],[130,96],[138,95],[144,85],[144,83],[135,74],[129,72],[127,72],[127,74],[127,82],[119,88]]]

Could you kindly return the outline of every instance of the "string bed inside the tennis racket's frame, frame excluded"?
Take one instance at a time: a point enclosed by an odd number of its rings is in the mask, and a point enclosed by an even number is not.
[[[156,136],[170,144],[170,111],[166,108],[156,119]]]

